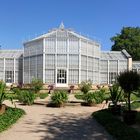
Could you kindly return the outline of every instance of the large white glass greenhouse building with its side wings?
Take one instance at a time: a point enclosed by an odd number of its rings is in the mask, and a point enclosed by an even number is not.
[[[0,78],[7,83],[26,84],[37,78],[56,87],[87,80],[111,84],[119,72],[132,69],[132,58],[125,50],[101,51],[100,43],[63,24],[25,42],[23,51],[0,50],[0,63]]]

